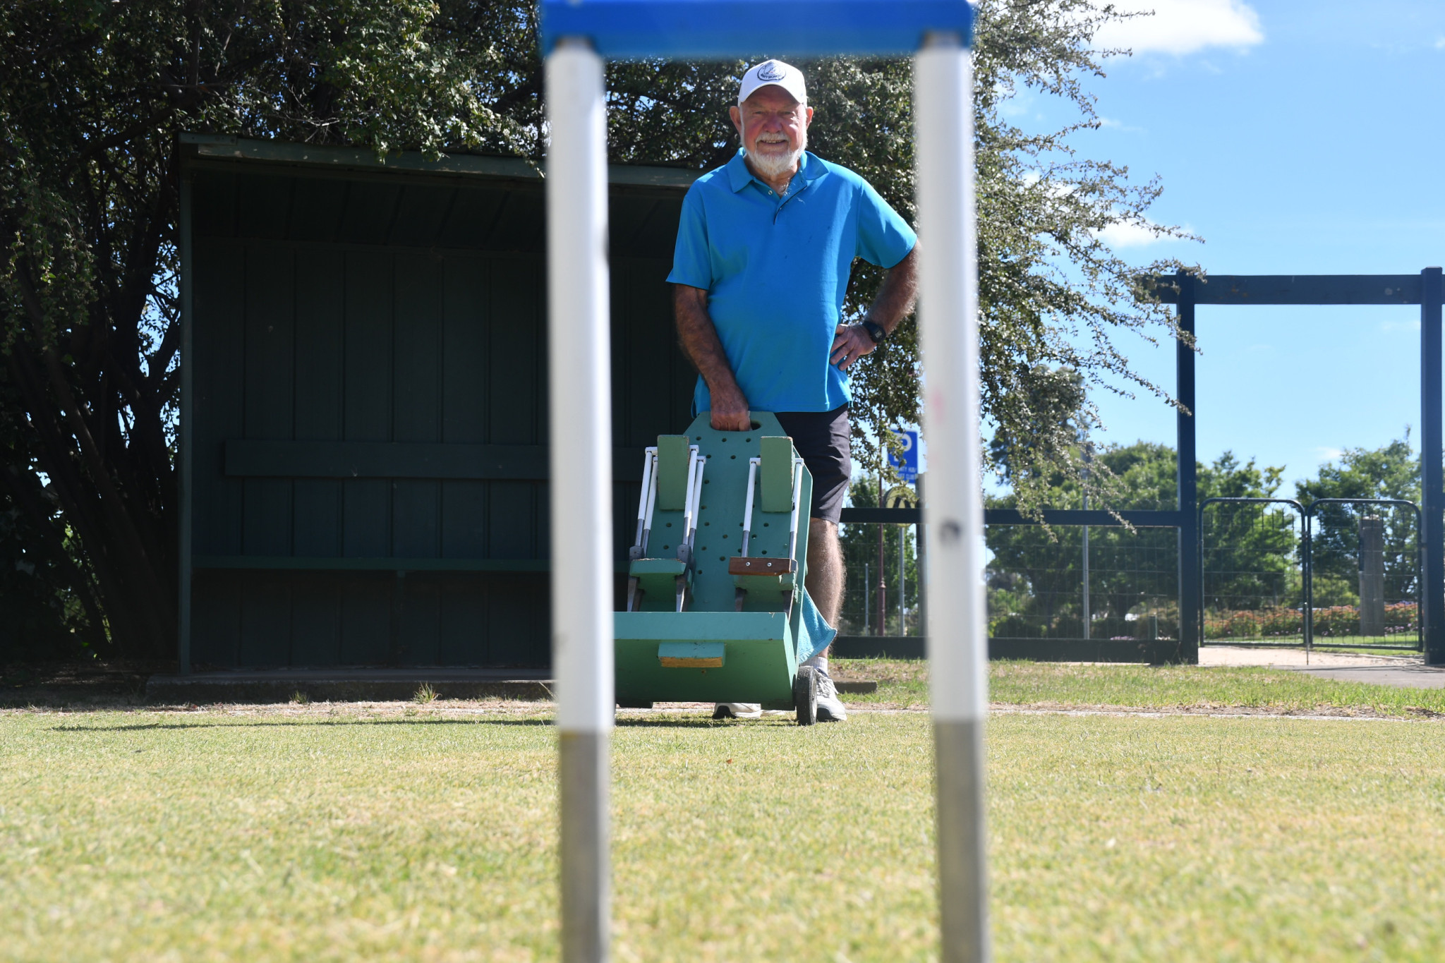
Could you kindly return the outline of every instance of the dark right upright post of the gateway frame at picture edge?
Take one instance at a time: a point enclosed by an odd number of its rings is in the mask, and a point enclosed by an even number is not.
[[[1445,468],[1441,465],[1441,269],[1420,271],[1420,511],[1425,661],[1445,664]]]

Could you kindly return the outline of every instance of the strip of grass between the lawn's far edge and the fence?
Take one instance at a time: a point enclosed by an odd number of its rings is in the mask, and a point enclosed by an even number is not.
[[[850,694],[858,705],[928,705],[928,664],[918,660],[835,658],[834,674],[876,679],[879,690]],[[988,666],[994,703],[1059,707],[1267,709],[1355,712],[1412,718],[1445,713],[1445,689],[1402,689],[1335,681],[1286,668],[1215,666],[1077,666],[996,661]]]

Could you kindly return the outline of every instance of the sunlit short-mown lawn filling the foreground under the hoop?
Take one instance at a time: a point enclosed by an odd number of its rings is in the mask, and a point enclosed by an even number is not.
[[[0,713],[0,959],[555,959],[548,722],[445,702]],[[997,959],[1445,959],[1442,736],[996,716]],[[624,713],[616,959],[933,959],[929,745],[916,712]]]

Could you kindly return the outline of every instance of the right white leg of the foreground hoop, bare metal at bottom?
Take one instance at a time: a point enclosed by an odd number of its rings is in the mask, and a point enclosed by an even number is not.
[[[915,59],[919,325],[928,446],[929,677],[944,963],[987,963],[984,513],[972,59],[931,35]]]

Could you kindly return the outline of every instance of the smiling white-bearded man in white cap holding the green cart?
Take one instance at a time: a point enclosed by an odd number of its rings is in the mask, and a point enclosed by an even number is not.
[[[699,178],[682,204],[672,274],[678,336],[698,368],[694,410],[743,432],[773,411],[814,478],[808,593],[829,625],[842,606],[838,514],[853,474],[848,368],[912,309],[916,237],[863,178],[808,153],[812,107],[798,68],[763,61],[743,75],[728,114],[737,156]],[[853,260],[887,269],[855,323],[841,323]],[[841,722],[827,651],[818,718]],[[749,703],[718,716],[756,716]]]

